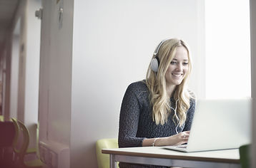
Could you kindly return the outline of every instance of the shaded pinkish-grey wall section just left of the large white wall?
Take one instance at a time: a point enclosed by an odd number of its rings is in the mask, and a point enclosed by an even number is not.
[[[63,20],[59,25],[59,9]],[[39,141],[70,145],[73,1],[42,1]],[[55,151],[56,152],[56,151]],[[68,162],[69,156],[59,160]]]

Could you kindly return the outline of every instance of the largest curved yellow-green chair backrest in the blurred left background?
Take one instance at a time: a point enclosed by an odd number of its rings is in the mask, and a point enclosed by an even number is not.
[[[24,163],[24,155],[26,154],[26,149],[29,147],[29,130],[26,128],[26,126],[18,121],[19,124],[19,130],[21,135],[23,135],[23,140],[22,140],[22,145],[21,148],[19,149],[19,161],[21,163]]]

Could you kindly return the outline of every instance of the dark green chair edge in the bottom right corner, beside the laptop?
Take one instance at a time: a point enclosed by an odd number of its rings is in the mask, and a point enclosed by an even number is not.
[[[250,147],[251,145],[242,145],[239,148],[240,163],[242,168],[250,168]]]

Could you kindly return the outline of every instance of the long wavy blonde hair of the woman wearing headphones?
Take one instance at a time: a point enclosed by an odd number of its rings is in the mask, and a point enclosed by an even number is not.
[[[177,104],[177,114],[174,112],[172,120],[175,122],[175,118],[176,121],[179,121],[179,126],[182,126],[187,119],[187,110],[190,107],[190,98],[193,97],[189,93],[189,90],[187,90],[187,78],[189,77],[192,69],[189,47],[187,46],[187,43],[184,43],[184,41],[177,38],[166,40],[162,43],[162,46],[160,46],[159,52],[157,53],[157,57],[160,62],[157,73],[154,73],[149,65],[146,76],[146,84],[150,92],[149,100],[152,105],[152,117],[157,125],[159,125],[159,123],[164,125],[164,123],[167,122],[170,112],[172,112],[164,76],[169,64],[176,54],[176,48],[178,46],[183,46],[187,49],[189,67],[182,83],[176,86],[174,93],[172,94]],[[155,56],[153,56],[153,58],[154,57]]]

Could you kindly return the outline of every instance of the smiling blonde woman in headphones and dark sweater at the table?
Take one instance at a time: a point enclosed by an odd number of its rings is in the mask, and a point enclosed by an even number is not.
[[[122,101],[119,147],[187,143],[195,98],[187,90],[191,72],[189,48],[177,38],[157,46],[146,80],[132,83]],[[120,167],[153,167],[120,163]]]

